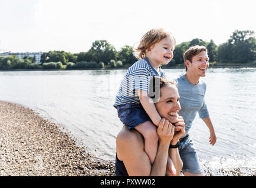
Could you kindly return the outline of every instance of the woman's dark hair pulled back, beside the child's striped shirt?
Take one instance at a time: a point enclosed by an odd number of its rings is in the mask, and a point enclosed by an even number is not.
[[[168,80],[166,78],[161,78],[158,76],[153,76],[153,78],[150,80],[150,91],[149,96],[154,100],[154,102],[158,102],[159,98],[161,97],[160,90],[162,88],[165,88],[165,86],[176,86],[178,88],[177,82],[175,80]]]

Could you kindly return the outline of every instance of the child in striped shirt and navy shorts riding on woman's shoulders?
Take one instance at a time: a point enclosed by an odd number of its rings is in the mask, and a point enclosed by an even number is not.
[[[160,65],[167,65],[173,58],[175,44],[172,33],[163,29],[148,31],[136,49],[139,61],[130,66],[124,75],[114,103],[123,124],[143,135],[145,152],[151,163],[156,157],[156,126],[159,125],[161,117],[149,96],[150,79],[153,76],[165,77]]]

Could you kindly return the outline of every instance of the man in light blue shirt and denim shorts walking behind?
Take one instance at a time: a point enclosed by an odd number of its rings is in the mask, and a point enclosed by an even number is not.
[[[189,129],[196,113],[204,120],[210,131],[209,142],[215,145],[216,135],[205,104],[206,83],[204,77],[209,67],[209,58],[205,46],[192,46],[184,53],[186,73],[176,78],[180,95],[181,110],[179,115],[185,121],[185,135],[180,139],[179,153],[183,162],[182,172],[185,176],[202,176],[198,155],[189,137]]]

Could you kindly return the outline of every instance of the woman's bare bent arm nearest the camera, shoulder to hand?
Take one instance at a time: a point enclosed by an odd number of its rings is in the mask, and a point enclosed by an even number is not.
[[[174,134],[174,126],[162,119],[157,128],[159,146],[155,162],[150,164],[144,151],[144,140],[136,130],[130,131],[126,126],[117,136],[117,156],[123,160],[129,176],[165,176],[168,149]]]

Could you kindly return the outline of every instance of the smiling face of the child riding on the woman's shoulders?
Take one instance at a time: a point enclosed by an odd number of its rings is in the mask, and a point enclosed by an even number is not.
[[[157,65],[167,65],[173,58],[173,50],[175,48],[175,42],[173,38],[166,37],[155,45],[150,46],[146,56],[153,63]]]

